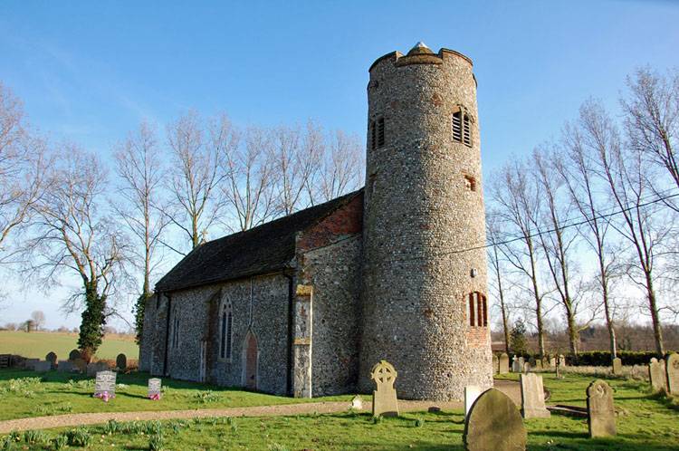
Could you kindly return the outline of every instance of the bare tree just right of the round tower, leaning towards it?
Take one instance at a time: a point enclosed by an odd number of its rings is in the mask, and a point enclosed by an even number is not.
[[[521,161],[505,165],[491,185],[491,198],[502,226],[516,234],[515,241],[499,249],[514,271],[528,279],[522,288],[532,298],[531,311],[536,318],[538,348],[542,357],[545,355],[544,293],[540,290],[538,246],[532,228],[539,220],[541,196],[527,165]]]

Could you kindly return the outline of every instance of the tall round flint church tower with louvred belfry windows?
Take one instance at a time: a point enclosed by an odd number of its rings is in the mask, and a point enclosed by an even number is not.
[[[425,44],[370,66],[359,387],[387,360],[399,398],[493,385],[472,61]]]

